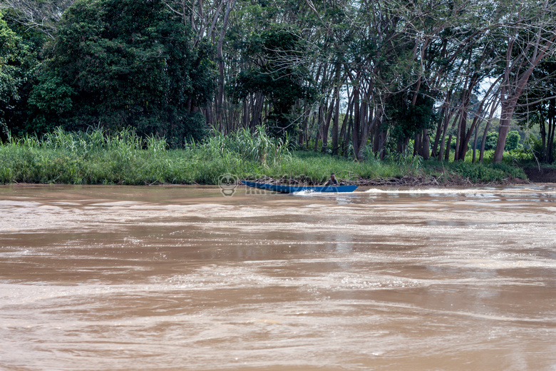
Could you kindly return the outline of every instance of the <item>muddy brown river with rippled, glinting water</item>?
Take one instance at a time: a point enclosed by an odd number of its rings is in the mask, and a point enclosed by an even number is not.
[[[556,189],[0,186],[0,370],[556,370]]]

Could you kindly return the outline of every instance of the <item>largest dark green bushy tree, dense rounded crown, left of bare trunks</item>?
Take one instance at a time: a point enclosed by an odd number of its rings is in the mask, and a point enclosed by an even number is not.
[[[88,126],[202,136],[198,108],[214,90],[207,44],[160,0],[78,0],[63,16],[51,59],[31,93],[38,131]]]

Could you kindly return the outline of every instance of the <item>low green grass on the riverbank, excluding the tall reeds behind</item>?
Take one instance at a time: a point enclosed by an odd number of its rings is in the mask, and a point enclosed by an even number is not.
[[[56,184],[200,184],[217,185],[222,176],[268,183],[321,184],[331,172],[346,184],[473,185],[526,183],[522,168],[441,161],[350,161],[317,153],[298,153],[276,163],[247,161],[237,156],[211,158],[202,151],[172,150],[133,156],[105,151],[83,156],[41,148],[0,147],[0,183]],[[535,178],[535,179],[538,179]]]

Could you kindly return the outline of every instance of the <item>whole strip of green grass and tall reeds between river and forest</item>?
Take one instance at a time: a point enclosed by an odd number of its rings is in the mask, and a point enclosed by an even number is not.
[[[465,178],[496,183],[523,178],[508,165],[422,161],[409,154],[384,160],[370,151],[365,161],[294,151],[289,139],[273,138],[259,126],[170,149],[163,138],[141,138],[133,129],[107,133],[102,128],[70,133],[57,128],[42,138],[24,136],[0,144],[0,183],[63,184],[217,184],[223,174],[237,178],[274,178],[307,184],[326,181],[330,173],[346,182],[404,177],[449,183]]]

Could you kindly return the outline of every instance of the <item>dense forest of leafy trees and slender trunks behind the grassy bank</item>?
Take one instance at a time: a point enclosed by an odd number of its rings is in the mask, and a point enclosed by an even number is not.
[[[298,148],[483,161],[510,124],[554,161],[552,0],[0,0],[0,140],[260,125]],[[479,128],[481,130],[479,130]],[[451,145],[451,143],[454,143]],[[448,143],[448,145],[447,145]],[[475,150],[473,150],[475,160]]]

